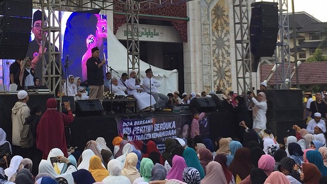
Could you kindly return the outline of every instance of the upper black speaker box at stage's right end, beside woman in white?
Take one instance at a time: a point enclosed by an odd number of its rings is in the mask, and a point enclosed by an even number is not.
[[[264,90],[263,92],[267,98],[267,120],[286,121],[303,119],[301,90]]]

